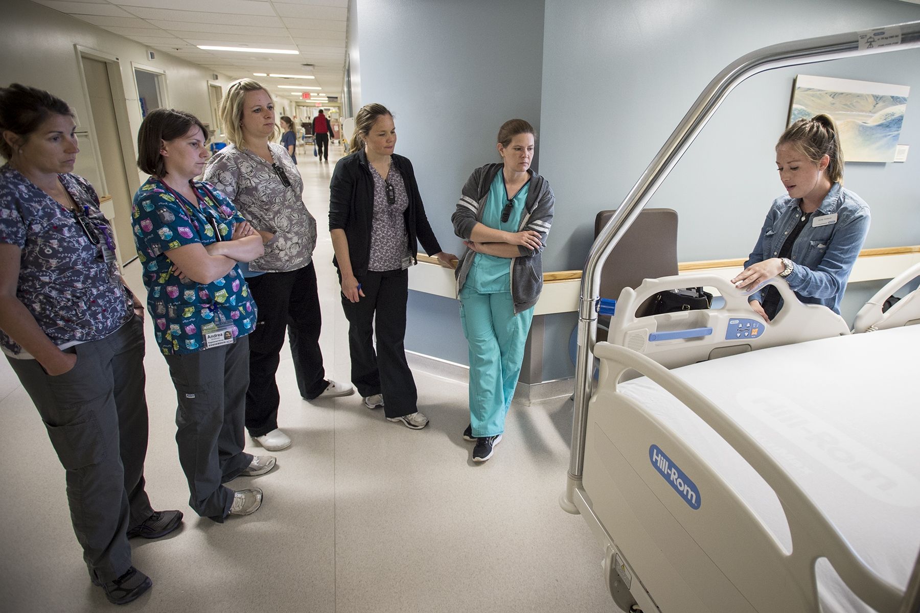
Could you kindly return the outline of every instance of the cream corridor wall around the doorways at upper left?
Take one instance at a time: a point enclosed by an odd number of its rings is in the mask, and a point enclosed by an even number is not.
[[[29,0],[4,0],[2,16],[0,84],[21,83],[46,89],[66,100],[78,118],[88,117],[89,110],[74,45],[118,57],[135,156],[142,118],[132,62],[166,71],[168,105],[164,106],[186,110],[204,122],[212,122],[207,81],[213,71],[163,51],[156,51],[156,59],[148,60],[145,45]],[[217,82],[225,87],[230,79],[218,74]],[[131,165],[128,170],[132,187],[139,185],[139,177],[131,176],[135,168]]]

